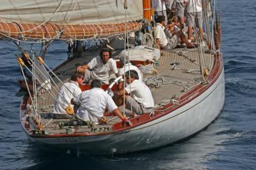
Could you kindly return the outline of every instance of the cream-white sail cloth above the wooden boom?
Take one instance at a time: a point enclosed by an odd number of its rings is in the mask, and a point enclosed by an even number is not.
[[[127,0],[127,20],[143,18],[140,0]],[[1,21],[96,24],[124,22],[124,0],[1,0]]]

